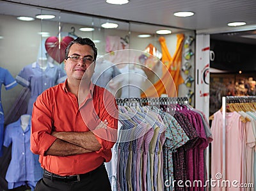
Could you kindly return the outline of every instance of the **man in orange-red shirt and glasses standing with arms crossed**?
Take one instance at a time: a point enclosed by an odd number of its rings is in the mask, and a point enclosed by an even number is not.
[[[40,190],[111,190],[104,162],[116,141],[115,98],[91,77],[97,48],[78,37],[66,49],[67,80],[47,89],[34,103],[31,151],[40,155]]]

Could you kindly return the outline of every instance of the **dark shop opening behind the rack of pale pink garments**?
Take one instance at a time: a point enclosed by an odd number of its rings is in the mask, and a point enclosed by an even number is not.
[[[223,96],[256,95],[254,36],[255,30],[211,34],[209,116],[221,108]]]

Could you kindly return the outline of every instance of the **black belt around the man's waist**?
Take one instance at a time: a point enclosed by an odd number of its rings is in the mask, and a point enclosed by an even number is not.
[[[87,172],[85,174],[76,174],[76,175],[70,175],[70,176],[60,176],[58,174],[54,174],[54,173],[46,171],[44,169],[44,175],[43,176],[44,176],[44,178],[51,179],[52,181],[56,180],[56,181],[63,181],[63,182],[78,182],[78,181],[81,181],[84,178],[90,176],[90,174],[92,174],[93,172],[96,172],[102,166],[104,167],[104,164],[97,167],[97,169],[95,169],[93,171],[90,171],[90,172]]]

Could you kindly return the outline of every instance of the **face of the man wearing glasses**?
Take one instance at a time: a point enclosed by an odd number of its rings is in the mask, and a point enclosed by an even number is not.
[[[83,61],[83,58],[88,57],[88,59],[92,58],[94,60],[93,55],[93,49],[89,45],[72,45],[68,53],[68,58],[65,59],[64,67],[68,79],[81,80],[83,77],[83,79],[91,80],[95,68],[95,62],[90,63],[90,61]],[[75,61],[72,57],[79,57],[79,59]]]

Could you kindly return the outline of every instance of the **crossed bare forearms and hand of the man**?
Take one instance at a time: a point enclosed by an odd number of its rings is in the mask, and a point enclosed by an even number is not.
[[[106,128],[107,125],[107,121],[102,121],[97,129]],[[58,139],[47,149],[45,155],[79,155],[99,151],[101,148],[99,141],[92,132],[52,132],[51,135]]]

